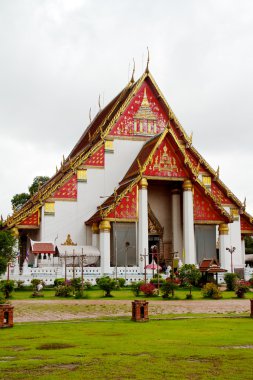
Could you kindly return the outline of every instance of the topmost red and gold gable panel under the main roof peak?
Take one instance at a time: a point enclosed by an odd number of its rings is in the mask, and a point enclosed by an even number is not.
[[[162,132],[168,117],[149,85],[144,82],[112,128],[113,136],[152,136]]]

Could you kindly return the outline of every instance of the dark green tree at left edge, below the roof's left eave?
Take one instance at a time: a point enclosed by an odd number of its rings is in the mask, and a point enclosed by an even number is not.
[[[0,231],[0,275],[6,272],[8,263],[16,258],[16,242],[13,231]]]

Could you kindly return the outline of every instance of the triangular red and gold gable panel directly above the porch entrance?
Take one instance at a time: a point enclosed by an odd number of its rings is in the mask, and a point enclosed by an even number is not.
[[[144,174],[152,177],[186,178],[188,176],[168,139],[162,141]]]

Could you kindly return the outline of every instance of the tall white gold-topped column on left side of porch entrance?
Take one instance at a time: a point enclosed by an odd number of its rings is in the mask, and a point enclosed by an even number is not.
[[[138,222],[138,246],[140,273],[144,273],[144,256],[148,255],[148,181],[142,178],[139,182],[139,222]],[[146,257],[148,263],[148,257]]]

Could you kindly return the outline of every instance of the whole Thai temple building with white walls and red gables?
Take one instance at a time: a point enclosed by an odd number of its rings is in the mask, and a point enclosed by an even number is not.
[[[20,276],[47,268],[52,279],[80,274],[80,262],[90,276],[129,281],[152,260],[175,267],[214,259],[243,273],[244,237],[253,235],[245,204],[193,147],[148,67],[4,226],[19,233]]]

